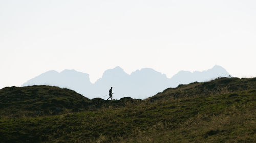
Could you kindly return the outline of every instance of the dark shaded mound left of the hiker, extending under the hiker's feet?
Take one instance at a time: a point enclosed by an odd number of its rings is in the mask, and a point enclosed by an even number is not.
[[[60,115],[95,110],[105,106],[124,106],[130,102],[136,103],[141,100],[130,98],[111,102],[101,98],[90,100],[75,91],[47,85],[7,87],[0,90],[0,119]]]

